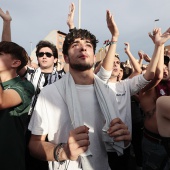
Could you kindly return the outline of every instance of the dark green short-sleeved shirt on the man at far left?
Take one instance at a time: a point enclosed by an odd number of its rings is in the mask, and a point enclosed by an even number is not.
[[[25,131],[34,87],[27,80],[16,77],[2,83],[2,88],[15,90],[20,95],[22,103],[0,110],[0,169],[24,170]]]

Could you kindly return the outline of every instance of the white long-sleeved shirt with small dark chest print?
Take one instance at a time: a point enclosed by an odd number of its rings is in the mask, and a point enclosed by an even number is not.
[[[142,74],[116,83],[108,82],[109,87],[116,96],[120,119],[128,126],[130,132],[132,132],[131,96],[138,93],[149,82]]]

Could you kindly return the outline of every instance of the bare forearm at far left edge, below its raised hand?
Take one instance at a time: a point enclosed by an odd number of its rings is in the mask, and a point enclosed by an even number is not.
[[[2,41],[11,41],[11,21],[3,22]]]

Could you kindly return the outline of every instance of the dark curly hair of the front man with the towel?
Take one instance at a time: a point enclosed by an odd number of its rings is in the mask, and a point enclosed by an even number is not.
[[[73,29],[70,33],[68,33],[65,37],[64,43],[63,43],[63,54],[68,55],[68,49],[70,45],[74,42],[76,38],[81,38],[81,39],[87,39],[91,42],[94,53],[96,51],[96,45],[98,43],[98,40],[96,37],[90,33],[88,30],[85,29]]]

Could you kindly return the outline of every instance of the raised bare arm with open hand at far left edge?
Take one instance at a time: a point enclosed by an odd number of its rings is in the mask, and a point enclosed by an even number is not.
[[[3,19],[2,41],[11,41],[11,21],[8,11],[6,13],[0,8],[0,16]]]

